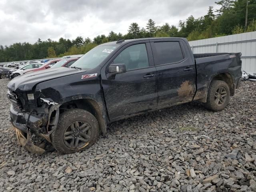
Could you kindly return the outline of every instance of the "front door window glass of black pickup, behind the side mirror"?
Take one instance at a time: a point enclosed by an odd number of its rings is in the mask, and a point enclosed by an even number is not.
[[[126,70],[148,67],[149,64],[146,44],[136,44],[125,48],[112,63],[125,64]]]

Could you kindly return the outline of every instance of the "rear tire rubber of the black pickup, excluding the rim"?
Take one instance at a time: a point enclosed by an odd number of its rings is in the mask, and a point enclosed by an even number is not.
[[[226,91],[226,99],[221,105],[218,105],[215,102],[215,94],[219,88],[224,88]],[[230,90],[229,90],[228,84],[221,80],[213,80],[210,83],[205,107],[212,111],[223,110],[228,105],[229,98],[230,98]]]

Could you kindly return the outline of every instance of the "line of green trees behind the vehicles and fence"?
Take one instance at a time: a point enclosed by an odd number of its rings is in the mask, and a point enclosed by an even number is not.
[[[149,19],[146,27],[140,27],[133,22],[128,27],[127,34],[111,31],[108,36],[102,34],[93,40],[78,36],[76,39],[60,38],[58,41],[42,41],[30,44],[14,43],[10,46],[0,45],[0,62],[56,58],[72,54],[84,54],[95,46],[122,39],[148,37],[185,37],[189,41],[205,38],[239,34],[256,31],[256,0],[220,0],[215,2],[220,8],[214,10],[209,6],[208,13],[199,18],[189,16],[180,20],[178,27],[165,23],[157,26]]]

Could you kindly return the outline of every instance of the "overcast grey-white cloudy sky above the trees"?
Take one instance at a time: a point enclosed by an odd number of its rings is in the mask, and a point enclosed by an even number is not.
[[[41,38],[93,39],[113,30],[126,34],[148,19],[178,26],[188,16],[203,16],[216,0],[0,0],[0,44],[34,43]]]

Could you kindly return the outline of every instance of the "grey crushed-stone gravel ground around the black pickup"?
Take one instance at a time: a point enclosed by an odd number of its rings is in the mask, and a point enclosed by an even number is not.
[[[256,191],[256,83],[221,112],[191,102],[108,126],[87,151],[20,147],[0,79],[0,191]]]

